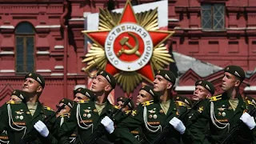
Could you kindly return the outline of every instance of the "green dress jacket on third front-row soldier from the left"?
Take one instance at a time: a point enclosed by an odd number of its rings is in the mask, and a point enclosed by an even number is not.
[[[167,114],[164,113],[159,102],[154,103],[154,100],[142,102],[130,117],[118,124],[115,133],[118,133],[118,137],[122,139],[124,144],[138,144],[140,142],[134,138],[130,131],[142,126],[142,133],[145,136],[144,143],[150,143],[157,138],[164,126],[170,125],[170,119],[178,117],[185,110],[186,106],[178,106],[178,103],[174,102],[173,99],[170,99]],[[180,134],[176,130],[170,130],[164,141],[166,143],[179,142]]]

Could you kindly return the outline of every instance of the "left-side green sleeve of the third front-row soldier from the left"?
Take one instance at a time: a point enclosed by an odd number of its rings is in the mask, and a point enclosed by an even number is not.
[[[136,113],[136,114],[135,114]],[[137,110],[120,122],[114,131],[115,134],[122,140],[123,144],[139,144],[138,140],[130,133],[131,130],[138,128],[143,124],[142,106],[138,106]]]

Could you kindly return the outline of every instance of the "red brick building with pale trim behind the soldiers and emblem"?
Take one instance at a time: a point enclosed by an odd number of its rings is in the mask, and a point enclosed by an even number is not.
[[[12,90],[21,89],[24,75],[31,70],[46,78],[40,99],[47,106],[73,98],[74,88],[86,85],[81,62],[86,53],[81,33],[86,14],[98,12],[106,2],[0,0],[0,105]],[[114,2],[115,8],[126,3]],[[256,1],[168,2],[169,29],[176,32],[170,38],[176,65],[170,68],[179,76],[177,93],[192,94],[198,78],[210,80],[220,92],[222,68],[234,64],[247,71],[241,90],[256,96]]]

